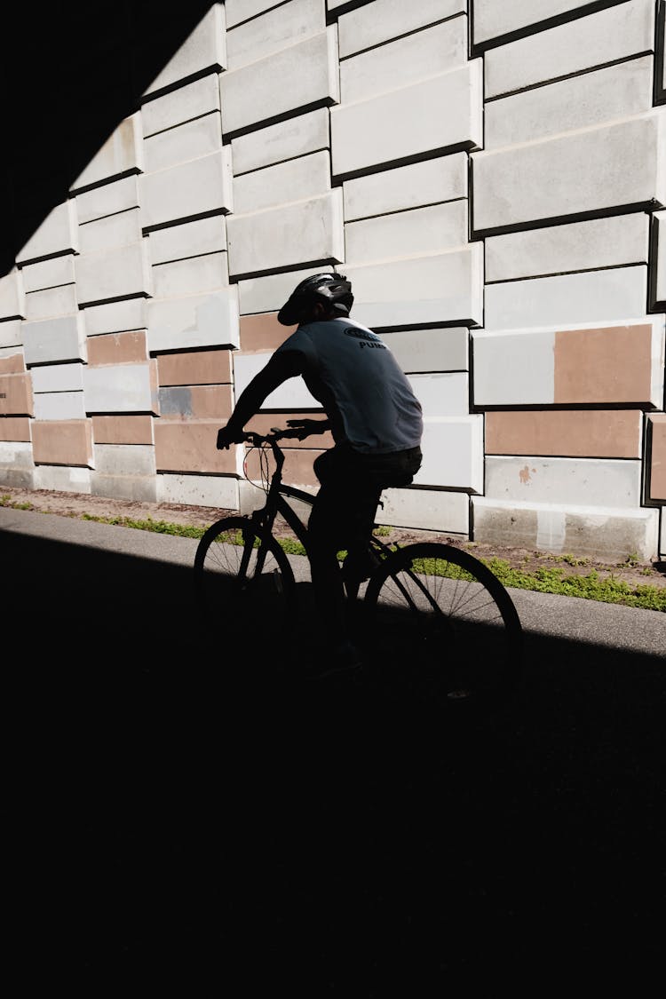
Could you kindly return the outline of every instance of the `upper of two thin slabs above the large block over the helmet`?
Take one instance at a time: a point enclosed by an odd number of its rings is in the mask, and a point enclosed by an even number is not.
[[[234,175],[330,149],[329,111],[319,108],[232,139]]]

